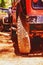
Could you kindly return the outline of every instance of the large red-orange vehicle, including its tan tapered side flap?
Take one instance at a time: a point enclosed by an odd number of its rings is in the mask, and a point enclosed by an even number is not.
[[[43,51],[43,0],[21,0],[18,3],[16,22],[19,52]]]

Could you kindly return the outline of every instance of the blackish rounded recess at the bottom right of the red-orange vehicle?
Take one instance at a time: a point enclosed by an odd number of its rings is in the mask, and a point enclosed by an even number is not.
[[[33,51],[43,51],[43,38],[40,36],[31,38],[31,47]]]

